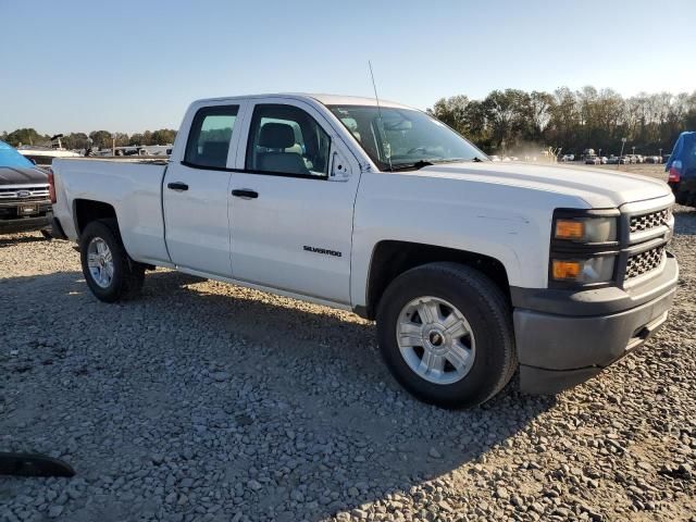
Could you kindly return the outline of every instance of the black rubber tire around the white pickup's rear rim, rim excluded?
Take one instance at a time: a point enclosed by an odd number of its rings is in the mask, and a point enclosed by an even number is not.
[[[105,287],[95,281],[87,263],[88,246],[97,237],[103,239],[113,259],[113,277]],[[145,265],[133,261],[126,253],[116,220],[99,220],[89,223],[79,236],[79,257],[87,286],[100,301],[116,302],[132,299],[140,293],[145,282]]]

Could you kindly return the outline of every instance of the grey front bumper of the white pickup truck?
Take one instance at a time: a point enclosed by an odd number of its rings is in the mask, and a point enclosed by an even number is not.
[[[678,278],[676,260],[670,254],[662,273],[631,294],[618,288],[576,293],[556,307],[548,302],[542,306],[544,290],[513,294],[521,389],[559,393],[642,346],[667,320]],[[554,290],[547,291],[554,296],[551,301],[559,299]],[[582,298],[577,294],[583,294]],[[538,306],[518,306],[524,303]],[[605,313],[587,315],[591,310]]]

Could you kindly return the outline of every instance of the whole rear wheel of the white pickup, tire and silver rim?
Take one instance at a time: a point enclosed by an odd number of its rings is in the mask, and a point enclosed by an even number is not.
[[[79,238],[79,253],[87,286],[99,300],[115,302],[139,294],[145,266],[126,253],[115,220],[89,223]]]

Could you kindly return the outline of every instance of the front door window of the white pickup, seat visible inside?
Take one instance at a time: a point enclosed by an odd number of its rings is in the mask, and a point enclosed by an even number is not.
[[[293,105],[257,105],[246,167],[257,172],[327,177],[331,139],[307,112]]]

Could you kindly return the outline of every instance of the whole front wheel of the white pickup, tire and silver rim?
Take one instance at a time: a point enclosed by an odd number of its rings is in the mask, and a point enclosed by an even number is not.
[[[430,263],[397,277],[380,300],[382,356],[419,399],[473,407],[496,395],[517,369],[510,306],[484,274]]]

